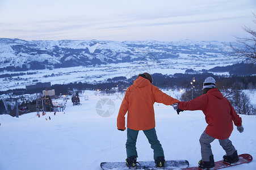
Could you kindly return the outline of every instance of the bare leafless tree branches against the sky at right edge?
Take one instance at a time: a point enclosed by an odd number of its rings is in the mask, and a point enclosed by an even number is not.
[[[253,22],[256,24],[256,15],[254,15]],[[232,45],[230,43],[230,47],[232,48],[232,53],[237,57],[247,57],[253,58],[252,62],[256,62],[256,31],[253,28],[242,27],[245,32],[249,33],[249,37],[239,37],[234,36],[236,38],[236,44]]]

